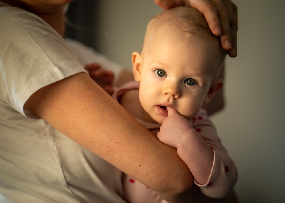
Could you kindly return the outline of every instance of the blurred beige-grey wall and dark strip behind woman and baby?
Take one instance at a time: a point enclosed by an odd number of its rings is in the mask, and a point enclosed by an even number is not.
[[[285,1],[233,2],[238,56],[226,58],[226,104],[212,119],[238,168],[239,201],[285,202]],[[67,13],[76,25],[66,36],[131,68],[131,53],[141,51],[159,11],[153,0],[76,0]]]

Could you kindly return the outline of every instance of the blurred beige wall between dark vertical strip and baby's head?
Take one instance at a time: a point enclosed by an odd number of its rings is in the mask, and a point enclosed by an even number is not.
[[[141,51],[148,21],[162,9],[153,0],[99,0],[95,49],[131,68],[131,54]],[[98,15],[98,14],[96,14]]]

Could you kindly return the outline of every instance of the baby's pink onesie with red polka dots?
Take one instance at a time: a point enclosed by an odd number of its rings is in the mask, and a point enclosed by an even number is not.
[[[119,101],[119,97],[126,91],[139,89],[139,82],[131,81],[117,89],[113,97]],[[156,134],[161,124],[145,122],[135,118],[146,129]],[[202,193],[209,197],[223,198],[230,194],[237,181],[237,169],[235,163],[227,154],[227,150],[221,144],[217,130],[205,110],[201,109],[198,114],[189,120],[193,128],[211,146],[214,152],[214,162],[211,174],[206,184],[200,185],[194,178],[194,183],[200,187]],[[129,203],[166,203],[153,190],[141,184],[126,174],[123,175],[123,195]]]

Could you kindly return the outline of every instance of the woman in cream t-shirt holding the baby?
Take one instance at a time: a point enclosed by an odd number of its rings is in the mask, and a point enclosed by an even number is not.
[[[193,177],[176,150],[101,89],[63,40],[68,2],[0,1],[0,193],[13,202],[124,202],[123,171],[169,202],[188,202]],[[214,33],[229,33],[229,18],[222,29],[214,19],[235,6],[213,5],[216,13],[209,3],[188,1]],[[232,56],[235,31],[221,36]]]

